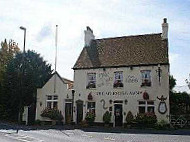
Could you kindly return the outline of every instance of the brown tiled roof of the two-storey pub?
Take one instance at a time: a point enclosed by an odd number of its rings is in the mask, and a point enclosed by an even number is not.
[[[168,42],[158,33],[92,40],[73,69],[168,63]]]

